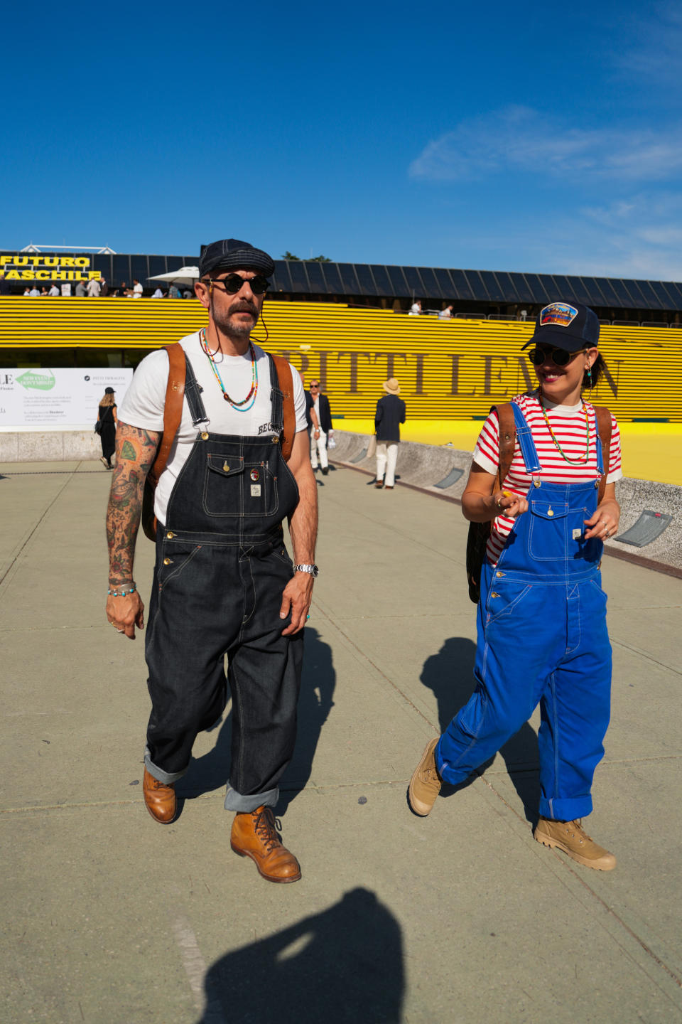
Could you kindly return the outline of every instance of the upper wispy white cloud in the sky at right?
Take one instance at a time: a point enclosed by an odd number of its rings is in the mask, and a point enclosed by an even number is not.
[[[682,171],[682,126],[665,135],[572,128],[530,108],[511,106],[463,121],[428,142],[409,173],[455,181],[510,170],[581,180],[665,180]]]

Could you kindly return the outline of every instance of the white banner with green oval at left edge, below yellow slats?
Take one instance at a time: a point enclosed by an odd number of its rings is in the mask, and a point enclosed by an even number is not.
[[[0,370],[0,430],[92,430],[104,388],[120,406],[132,379],[105,367]]]

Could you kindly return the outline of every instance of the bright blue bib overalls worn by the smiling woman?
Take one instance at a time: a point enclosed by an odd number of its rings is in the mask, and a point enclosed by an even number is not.
[[[601,541],[584,540],[603,472],[594,482],[547,483],[531,428],[512,403],[533,477],[495,567],[485,561],[478,609],[476,688],[443,733],[436,765],[462,782],[528,721],[540,701],[540,807],[572,821],[592,810],[590,788],[610,713],[611,648],[601,590]]]

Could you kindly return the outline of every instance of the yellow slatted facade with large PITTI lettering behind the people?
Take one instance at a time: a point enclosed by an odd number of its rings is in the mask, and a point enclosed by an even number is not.
[[[520,350],[532,324],[439,321],[318,302],[266,303],[265,319],[265,347],[288,355],[308,380],[319,377],[336,418],[373,416],[388,377],[399,379],[410,418],[419,420],[485,416],[535,381]],[[0,350],[38,349],[48,366],[45,350],[158,348],[206,321],[200,304],[188,300],[1,298]],[[255,336],[264,337],[262,325]],[[682,422],[682,332],[602,327],[599,347],[607,379],[594,401],[621,421]]]

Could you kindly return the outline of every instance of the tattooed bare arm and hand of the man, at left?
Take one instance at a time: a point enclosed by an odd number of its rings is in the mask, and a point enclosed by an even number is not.
[[[109,590],[128,590],[133,581],[135,541],[142,512],[142,492],[151,468],[160,433],[121,423],[116,434],[116,466],[106,509],[109,549]],[[144,625],[144,605],[137,591],[125,597],[107,595],[106,617],[131,640]]]

